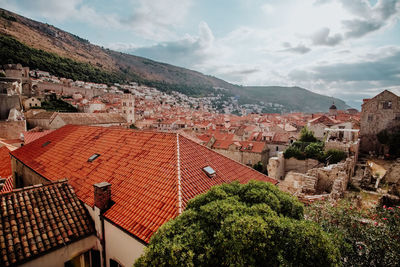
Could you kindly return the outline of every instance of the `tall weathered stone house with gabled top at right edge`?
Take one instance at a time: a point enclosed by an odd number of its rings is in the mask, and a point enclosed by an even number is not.
[[[382,154],[383,146],[377,134],[400,125],[400,97],[385,90],[371,99],[364,99],[361,106],[360,151]]]

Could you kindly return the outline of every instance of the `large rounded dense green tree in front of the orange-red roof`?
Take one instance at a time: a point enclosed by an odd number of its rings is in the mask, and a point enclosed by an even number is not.
[[[334,266],[329,235],[271,184],[213,187],[164,224],[135,266]]]

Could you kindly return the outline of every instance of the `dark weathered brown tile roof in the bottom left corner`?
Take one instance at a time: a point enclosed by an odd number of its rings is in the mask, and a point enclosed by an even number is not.
[[[0,265],[16,266],[94,233],[64,180],[0,194]]]

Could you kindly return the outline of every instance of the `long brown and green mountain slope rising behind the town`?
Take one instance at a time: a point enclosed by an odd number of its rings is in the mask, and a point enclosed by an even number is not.
[[[223,92],[237,96],[241,104],[276,103],[284,111],[327,111],[332,101],[339,109],[348,108],[342,100],[298,87],[237,86],[197,71],[112,51],[4,9],[0,9],[0,45],[0,64],[21,63],[75,80],[136,81],[191,96]]]

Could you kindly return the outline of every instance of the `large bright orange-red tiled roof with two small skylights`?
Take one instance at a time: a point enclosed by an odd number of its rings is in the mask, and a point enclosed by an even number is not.
[[[50,143],[43,147],[46,141]],[[100,156],[88,162],[94,153]],[[68,178],[89,205],[93,184],[111,183],[115,204],[105,217],[145,242],[190,198],[213,185],[252,179],[277,183],[173,133],[67,125],[12,155],[49,180]],[[216,175],[209,178],[202,170],[205,166]]]

